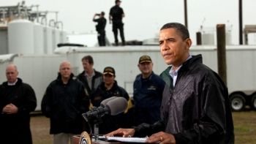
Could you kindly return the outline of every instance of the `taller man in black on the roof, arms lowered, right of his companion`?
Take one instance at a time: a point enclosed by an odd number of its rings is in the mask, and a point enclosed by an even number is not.
[[[115,37],[115,44],[118,45],[118,29],[120,32],[121,42],[122,45],[125,45],[124,39],[124,23],[122,19],[124,18],[124,10],[120,7],[121,1],[116,0],[116,5],[111,7],[109,13],[109,21],[110,24],[112,22],[112,30]]]

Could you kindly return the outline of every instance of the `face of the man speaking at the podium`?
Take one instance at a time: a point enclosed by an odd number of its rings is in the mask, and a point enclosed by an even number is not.
[[[179,67],[189,55],[191,39],[182,39],[176,29],[162,29],[159,34],[159,46],[165,63]]]

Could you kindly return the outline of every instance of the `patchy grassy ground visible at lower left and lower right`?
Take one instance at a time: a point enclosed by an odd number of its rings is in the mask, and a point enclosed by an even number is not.
[[[235,143],[252,144],[256,142],[256,111],[233,113]],[[31,132],[34,144],[53,143],[49,134],[49,119],[42,115],[31,116]]]

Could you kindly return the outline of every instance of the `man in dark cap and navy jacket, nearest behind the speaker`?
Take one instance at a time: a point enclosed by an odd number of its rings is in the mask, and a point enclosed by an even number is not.
[[[160,119],[160,106],[165,81],[154,74],[150,56],[140,56],[138,68],[141,74],[137,75],[133,83],[134,123],[135,126],[142,123],[154,124]]]

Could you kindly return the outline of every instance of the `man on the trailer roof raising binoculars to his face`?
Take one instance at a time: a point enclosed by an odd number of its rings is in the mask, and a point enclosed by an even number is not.
[[[99,18],[96,18],[97,16],[99,16]],[[104,16],[105,16],[105,12],[100,12],[100,14],[94,14],[94,18],[92,19],[94,22],[97,22],[96,31],[98,32],[99,46],[105,46],[106,45],[105,26],[106,26],[107,20],[105,19]]]

